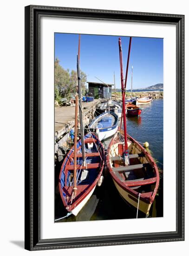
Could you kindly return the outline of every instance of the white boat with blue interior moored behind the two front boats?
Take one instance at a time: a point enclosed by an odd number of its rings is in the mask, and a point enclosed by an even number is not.
[[[90,123],[89,129],[98,136],[100,141],[102,141],[113,136],[117,132],[118,124],[118,116],[115,113],[108,111],[94,119]]]

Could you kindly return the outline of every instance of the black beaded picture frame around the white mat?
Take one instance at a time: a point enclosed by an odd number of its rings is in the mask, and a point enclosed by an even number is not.
[[[40,238],[40,17],[120,20],[176,25],[176,231]],[[25,7],[25,249],[157,243],[184,240],[184,15],[69,7]]]

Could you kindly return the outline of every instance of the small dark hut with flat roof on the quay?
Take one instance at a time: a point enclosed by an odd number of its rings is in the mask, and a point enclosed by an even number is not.
[[[95,99],[111,99],[111,87],[113,84],[87,82],[89,93],[92,93]]]

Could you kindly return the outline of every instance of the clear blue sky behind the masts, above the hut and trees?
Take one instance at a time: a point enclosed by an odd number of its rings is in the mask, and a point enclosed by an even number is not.
[[[121,36],[126,71],[129,37]],[[70,71],[77,68],[78,34],[55,33],[55,58]],[[133,66],[133,88],[145,88],[163,83],[163,39],[133,37],[130,51],[127,89],[131,86]],[[80,68],[87,74],[87,81],[114,83],[120,88],[120,66],[118,36],[81,34]]]

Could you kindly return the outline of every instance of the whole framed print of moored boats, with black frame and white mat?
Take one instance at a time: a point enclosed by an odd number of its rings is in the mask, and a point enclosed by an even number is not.
[[[184,16],[25,7],[25,248],[184,240]]]

